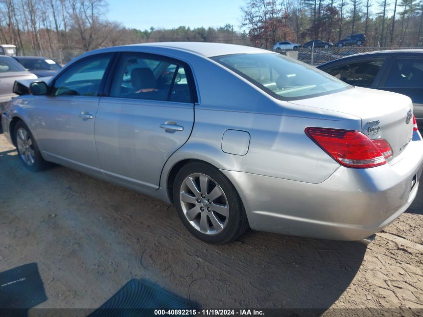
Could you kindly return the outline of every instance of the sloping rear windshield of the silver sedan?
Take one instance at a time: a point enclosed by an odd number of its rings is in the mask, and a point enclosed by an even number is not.
[[[281,100],[311,98],[351,88],[314,67],[281,54],[233,54],[212,59]]]

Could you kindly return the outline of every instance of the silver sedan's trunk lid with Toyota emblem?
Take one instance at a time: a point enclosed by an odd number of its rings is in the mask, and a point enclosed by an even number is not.
[[[412,138],[412,102],[400,94],[354,87],[330,95],[295,100],[294,104],[327,109],[361,118],[361,132],[370,139],[385,139],[392,158],[400,155]]]

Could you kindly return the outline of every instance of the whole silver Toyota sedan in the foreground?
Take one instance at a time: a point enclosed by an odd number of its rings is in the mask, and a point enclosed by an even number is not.
[[[210,243],[248,227],[362,240],[417,192],[423,142],[408,97],[277,53],[113,47],[29,92],[2,119],[25,166],[55,162],[173,203]]]

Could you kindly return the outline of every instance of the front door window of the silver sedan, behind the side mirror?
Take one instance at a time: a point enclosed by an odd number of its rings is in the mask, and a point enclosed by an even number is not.
[[[97,96],[111,55],[97,56],[77,63],[55,82],[53,96]]]

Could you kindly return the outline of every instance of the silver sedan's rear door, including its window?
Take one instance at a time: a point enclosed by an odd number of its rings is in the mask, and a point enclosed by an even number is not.
[[[122,53],[111,78],[95,123],[103,172],[135,189],[157,189],[165,162],[194,124],[191,71],[162,56]]]

